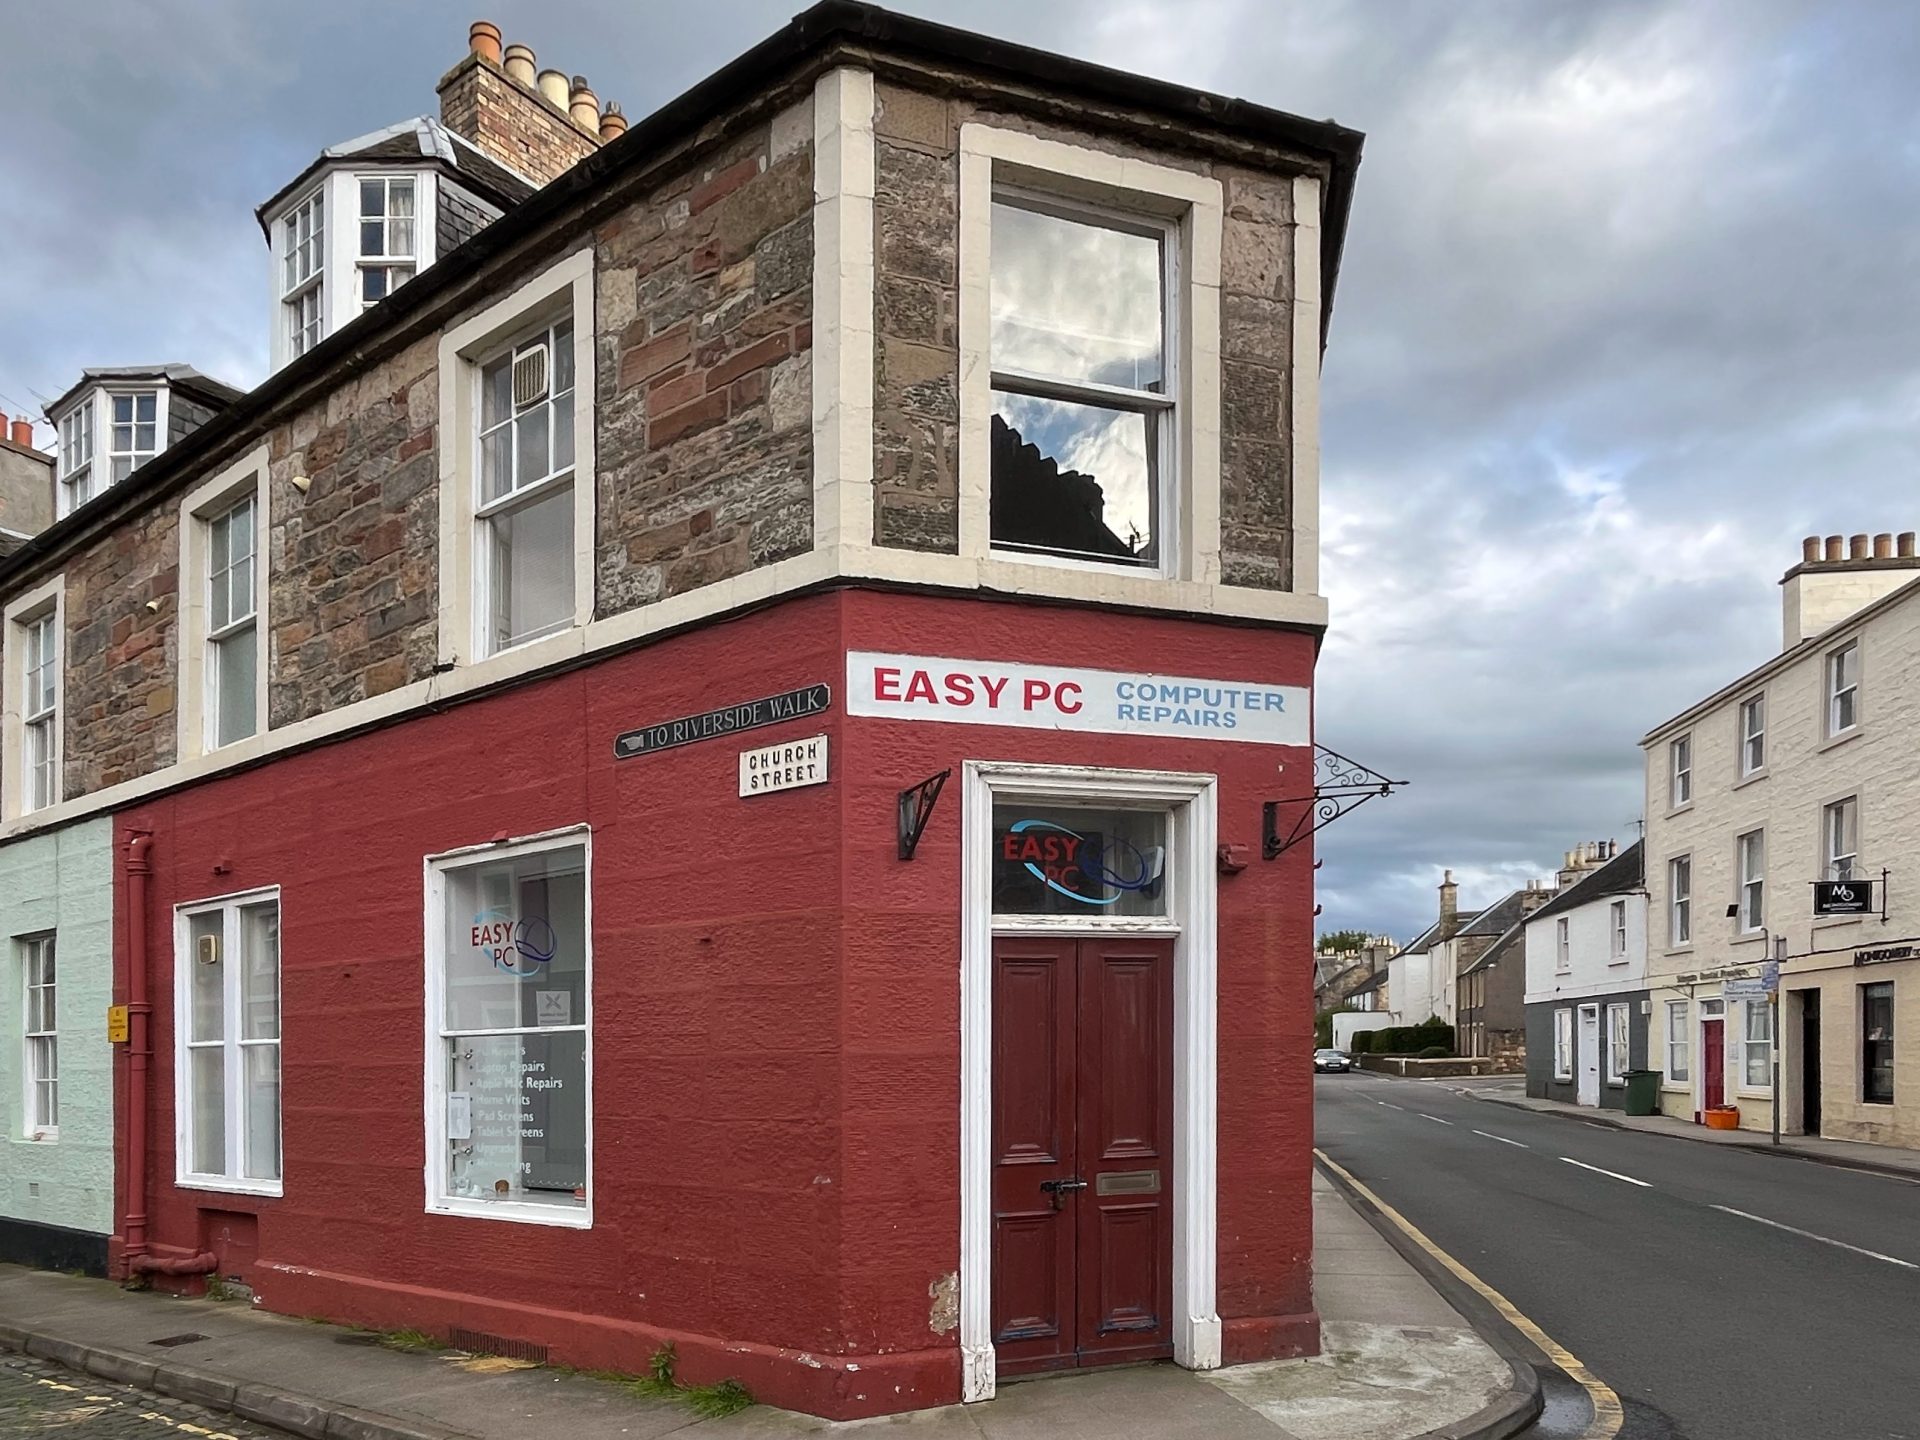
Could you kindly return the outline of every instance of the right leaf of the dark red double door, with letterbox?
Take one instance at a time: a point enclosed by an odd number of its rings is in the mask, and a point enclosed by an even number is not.
[[[1171,1354],[1173,941],[1081,941],[1079,1352]]]

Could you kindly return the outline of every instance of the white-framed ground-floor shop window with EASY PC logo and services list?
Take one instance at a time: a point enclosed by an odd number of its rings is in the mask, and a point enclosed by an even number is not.
[[[436,860],[428,1210],[589,1225],[588,845]]]

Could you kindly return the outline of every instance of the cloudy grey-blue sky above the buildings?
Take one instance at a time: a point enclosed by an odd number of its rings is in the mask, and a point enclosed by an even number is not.
[[[639,117],[795,0],[486,0]],[[1325,833],[1402,939],[1634,835],[1636,739],[1778,645],[1811,532],[1920,522],[1920,8],[973,0],[906,10],[1367,132],[1325,384]],[[252,207],[434,108],[476,6],[106,0],[10,27],[0,409],[267,365]],[[44,444],[46,430],[40,440]]]

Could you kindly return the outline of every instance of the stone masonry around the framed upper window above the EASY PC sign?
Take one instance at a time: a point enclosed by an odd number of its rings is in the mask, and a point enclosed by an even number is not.
[[[1277,171],[1123,144],[1027,113],[876,86],[874,536],[956,553],[958,536],[958,146],[979,121],[1221,180],[1221,580],[1292,586],[1290,369],[1294,213]],[[1206,376],[1200,376],[1206,382]]]

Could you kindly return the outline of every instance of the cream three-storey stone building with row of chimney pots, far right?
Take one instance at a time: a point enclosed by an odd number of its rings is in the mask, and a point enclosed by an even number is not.
[[[1778,1044],[1782,1133],[1920,1146],[1914,536],[1809,538],[1782,588],[1782,653],[1642,739],[1649,1062],[1764,1131]]]

